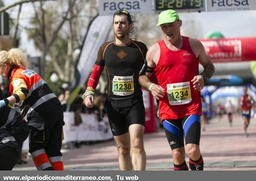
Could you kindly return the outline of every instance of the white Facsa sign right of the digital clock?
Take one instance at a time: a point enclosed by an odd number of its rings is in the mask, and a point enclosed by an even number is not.
[[[206,0],[207,11],[256,10],[256,0]]]

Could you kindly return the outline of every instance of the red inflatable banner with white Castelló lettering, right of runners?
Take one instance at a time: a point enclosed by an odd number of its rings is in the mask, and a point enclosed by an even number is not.
[[[214,63],[256,60],[256,37],[200,39]]]

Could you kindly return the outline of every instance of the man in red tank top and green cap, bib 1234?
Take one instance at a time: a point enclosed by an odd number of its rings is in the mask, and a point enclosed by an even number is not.
[[[199,149],[200,90],[212,76],[214,66],[199,40],[180,35],[181,24],[176,11],[166,10],[159,14],[157,26],[160,25],[164,39],[149,48],[145,75],[141,75],[139,81],[159,100],[160,117],[172,148],[174,170],[188,170],[184,136],[190,169],[203,170],[204,162]],[[200,75],[199,63],[204,67]],[[159,85],[148,79],[154,71]]]

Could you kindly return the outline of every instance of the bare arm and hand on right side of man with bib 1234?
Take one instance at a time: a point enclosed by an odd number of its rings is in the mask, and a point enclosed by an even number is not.
[[[204,71],[202,72],[202,74],[206,75],[208,79],[211,78],[215,71],[215,68],[212,64],[212,61],[207,56],[203,44],[199,40],[192,38],[189,38],[189,42],[191,45],[191,49],[196,55],[199,63],[204,67]],[[202,75],[196,75],[191,81],[193,82],[193,87],[196,90],[200,91],[203,89],[204,77]]]

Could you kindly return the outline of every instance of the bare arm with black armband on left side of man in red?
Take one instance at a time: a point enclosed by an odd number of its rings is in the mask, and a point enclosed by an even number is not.
[[[148,52],[146,55],[148,67],[156,68],[156,64],[159,60],[159,57],[160,57],[160,47],[159,47],[159,44],[156,43],[148,49]],[[146,70],[145,75],[139,76],[140,85],[144,87],[146,90],[149,90],[150,85],[153,84],[153,82],[149,79],[151,75],[152,73],[147,72]],[[151,87],[151,93],[157,100],[159,100],[159,97],[163,98],[164,96],[164,89],[161,86],[155,84],[154,86]]]

